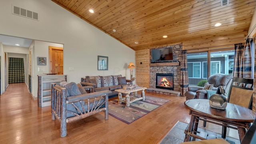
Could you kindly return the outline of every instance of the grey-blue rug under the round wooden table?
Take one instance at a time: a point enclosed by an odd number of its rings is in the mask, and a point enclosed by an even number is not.
[[[188,126],[188,124],[178,121],[159,144],[180,144],[180,143],[182,143],[184,141],[184,137],[185,137],[184,130],[186,129],[187,126]],[[206,130],[204,128],[198,127],[198,131],[206,132],[208,134],[208,136],[211,136],[212,138],[221,138],[221,134],[212,132],[210,130]],[[195,140],[198,140],[198,139],[195,139]],[[230,144],[240,144],[240,140],[235,139],[235,138],[230,138],[228,136],[226,136],[226,141],[228,141]]]

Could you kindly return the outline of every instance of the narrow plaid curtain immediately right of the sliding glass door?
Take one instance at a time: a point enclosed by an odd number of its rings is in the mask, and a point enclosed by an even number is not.
[[[244,52],[244,46],[242,43],[235,44],[235,53],[234,53],[234,68],[233,68],[233,76],[240,77],[240,64],[242,54]]]

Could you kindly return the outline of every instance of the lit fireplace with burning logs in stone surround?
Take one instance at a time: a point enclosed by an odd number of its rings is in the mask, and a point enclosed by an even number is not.
[[[173,74],[156,74],[156,88],[173,90]]]

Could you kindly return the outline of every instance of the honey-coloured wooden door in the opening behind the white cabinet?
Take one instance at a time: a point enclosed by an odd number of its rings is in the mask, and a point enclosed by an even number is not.
[[[49,63],[51,74],[63,74],[63,48],[49,46]]]

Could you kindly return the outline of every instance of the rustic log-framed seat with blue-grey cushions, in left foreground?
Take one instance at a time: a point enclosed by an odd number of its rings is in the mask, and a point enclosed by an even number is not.
[[[86,93],[86,89],[80,84],[71,82],[59,86],[52,84],[52,120],[60,121],[60,136],[67,134],[67,123],[86,118],[104,111],[105,119],[108,119],[108,94],[110,90]],[[79,88],[81,91],[79,90]],[[81,88],[82,87],[82,88]],[[82,94],[82,93],[84,94]]]

